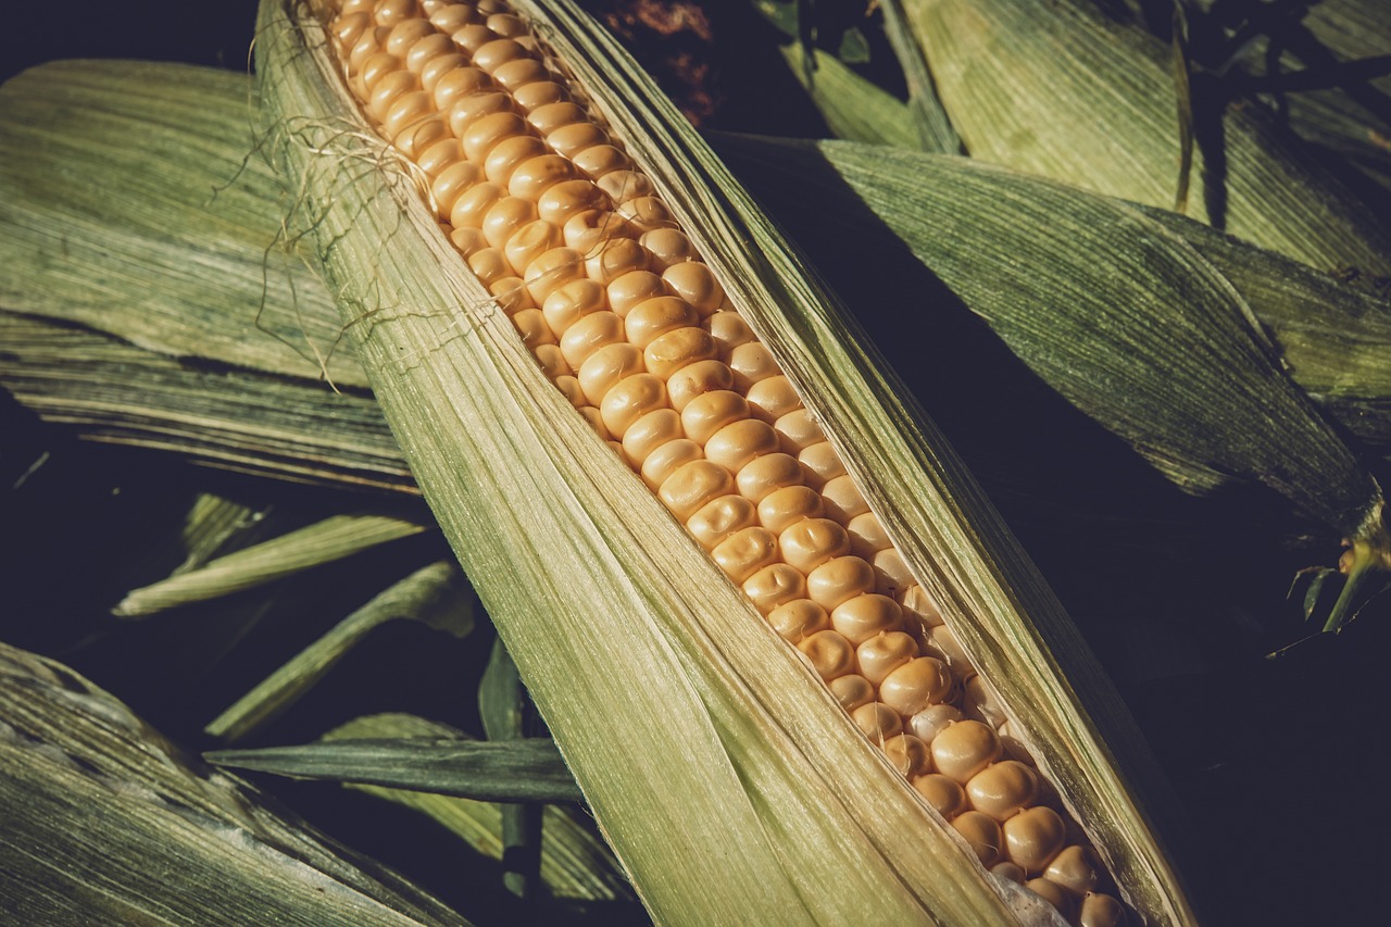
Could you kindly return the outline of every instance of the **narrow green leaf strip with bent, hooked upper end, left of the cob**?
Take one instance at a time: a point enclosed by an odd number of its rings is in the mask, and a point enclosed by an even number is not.
[[[298,702],[373,629],[399,618],[421,621],[456,637],[467,636],[474,622],[473,600],[459,568],[434,562],[389,586],[291,657],[204,729],[227,742],[245,738]]]

